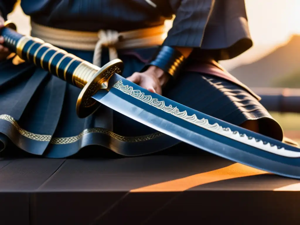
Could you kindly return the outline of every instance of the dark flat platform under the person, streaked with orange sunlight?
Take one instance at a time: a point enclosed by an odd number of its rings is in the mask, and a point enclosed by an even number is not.
[[[1,159],[8,224],[298,224],[300,181],[198,151]]]

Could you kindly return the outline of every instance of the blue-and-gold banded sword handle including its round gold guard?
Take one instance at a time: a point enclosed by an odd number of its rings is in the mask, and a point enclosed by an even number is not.
[[[110,77],[123,70],[120,59],[100,68],[39,38],[19,34],[16,26],[9,21],[5,22],[0,35],[4,37],[4,46],[23,60],[82,89],[76,104],[79,118],[91,115],[100,107],[101,104],[91,96],[100,89],[106,89]]]

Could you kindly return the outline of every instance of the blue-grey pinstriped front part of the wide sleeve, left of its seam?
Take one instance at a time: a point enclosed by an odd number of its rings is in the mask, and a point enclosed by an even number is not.
[[[164,45],[200,47],[205,27],[214,7],[214,1],[170,1],[176,17]]]

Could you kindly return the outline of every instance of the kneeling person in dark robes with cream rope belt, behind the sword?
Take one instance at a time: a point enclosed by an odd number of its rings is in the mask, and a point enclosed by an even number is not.
[[[0,0],[0,28],[16,1]],[[151,92],[283,141],[260,97],[218,61],[252,46],[244,0],[22,0],[31,36],[99,67],[119,58],[122,76]],[[165,34],[165,21],[173,26]],[[76,115],[80,89],[15,57],[0,37],[0,148],[65,158],[96,146],[121,155],[170,149],[178,140],[108,107]],[[181,60],[175,61],[175,58]],[[120,106],[122,107],[122,106]]]

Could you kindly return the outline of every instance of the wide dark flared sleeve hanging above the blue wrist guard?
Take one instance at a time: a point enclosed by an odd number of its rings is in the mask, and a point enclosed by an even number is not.
[[[176,18],[164,45],[192,47],[197,57],[209,54],[215,60],[234,58],[252,46],[244,0],[169,1]]]

